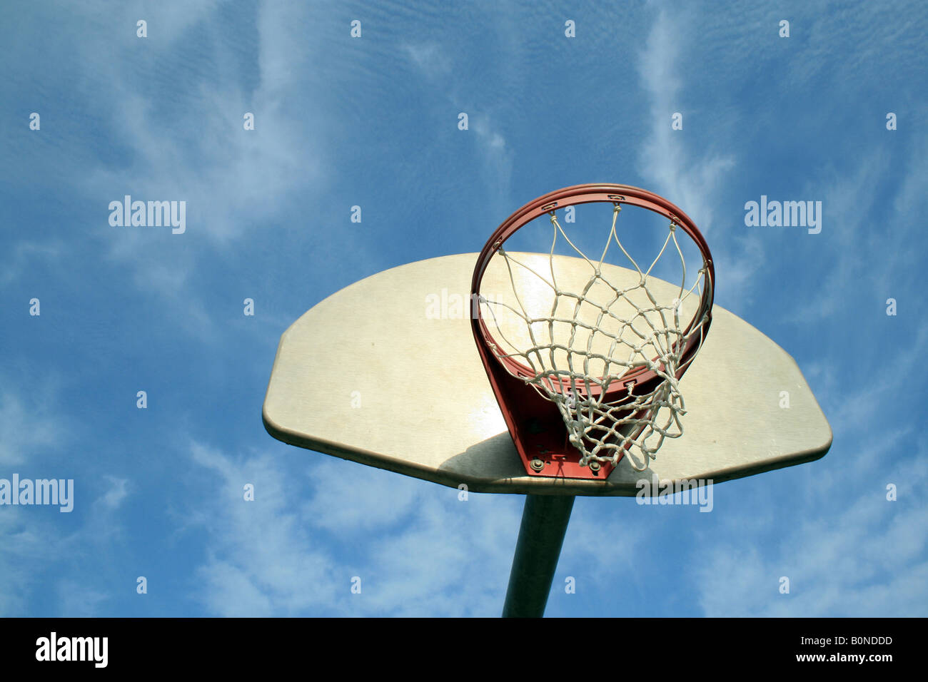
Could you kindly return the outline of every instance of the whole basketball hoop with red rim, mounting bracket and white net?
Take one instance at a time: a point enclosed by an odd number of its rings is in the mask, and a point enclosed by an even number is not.
[[[558,219],[568,206],[612,204],[612,226],[599,258],[574,245]],[[623,206],[635,206],[668,221],[664,246],[647,270],[625,250],[616,231]],[[545,214],[553,228],[548,274],[504,249],[507,239]],[[686,287],[686,262],[677,228],[693,241],[702,257],[696,282]],[[564,290],[554,251],[565,240],[589,266],[580,290]],[[621,250],[638,273],[638,281],[610,281],[607,252]],[[665,252],[676,252],[683,270],[677,297],[656,300],[649,288],[654,265]],[[512,302],[481,295],[483,275],[495,256],[505,262]],[[528,290],[526,290],[526,282]],[[686,413],[678,381],[702,347],[712,319],[715,270],[702,234],[686,213],[670,201],[638,187],[578,185],[535,199],[500,225],[477,259],[471,280],[477,314],[471,327],[483,367],[496,393],[509,433],[525,470],[532,476],[605,480],[627,456],[636,470],[646,470],[664,438],[682,434]],[[539,314],[525,304],[531,289],[543,290],[551,302]],[[682,326],[683,302],[698,296],[694,314]],[[592,315],[590,315],[592,311]],[[521,320],[515,338],[500,323],[502,316]],[[558,334],[556,330],[565,330]],[[600,348],[594,346],[599,344]],[[559,360],[560,358],[560,360]],[[601,367],[596,371],[593,367]]]

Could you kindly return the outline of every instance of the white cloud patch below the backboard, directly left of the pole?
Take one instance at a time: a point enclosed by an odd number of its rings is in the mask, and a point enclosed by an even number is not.
[[[519,526],[514,498],[461,501],[457,490],[341,460],[294,479],[267,456],[236,460],[199,444],[192,454],[219,476],[215,495],[202,495],[204,507],[194,512],[211,537],[197,573],[214,613],[496,615],[501,608]],[[244,483],[254,483],[254,502],[242,500]],[[303,502],[307,489],[315,492]],[[350,549],[343,558],[342,545]],[[355,576],[360,594],[351,592]]]

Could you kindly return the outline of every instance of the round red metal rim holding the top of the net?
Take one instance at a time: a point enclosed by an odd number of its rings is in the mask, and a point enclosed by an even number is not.
[[[471,296],[474,294],[479,295],[480,285],[483,281],[483,273],[486,271],[490,259],[496,254],[496,251],[502,247],[506,240],[523,225],[551,211],[596,201],[612,204],[630,204],[647,209],[651,212],[659,213],[675,225],[681,227],[696,243],[696,246],[702,253],[702,258],[705,261],[706,267],[706,281],[702,287],[702,297],[700,299],[699,308],[690,320],[690,324],[687,326],[684,336],[689,336],[690,330],[696,324],[702,324],[703,328],[700,334],[693,334],[690,336],[683,347],[680,356],[680,369],[677,372],[677,379],[679,379],[686,371],[687,367],[689,367],[692,356],[699,350],[702,337],[704,337],[709,330],[709,324],[712,320],[712,305],[715,291],[715,266],[712,261],[712,253],[709,251],[709,245],[705,238],[702,237],[699,228],[690,219],[690,216],[682,212],[676,204],[646,189],[628,185],[611,184],[575,185],[574,187],[564,187],[563,189],[549,192],[525,204],[521,209],[513,212],[502,225],[499,225],[483,246],[483,250],[477,258],[477,264],[474,267],[473,277],[470,282]],[[493,335],[490,333],[483,320],[483,313],[480,310],[480,306],[477,306],[476,313],[476,315],[471,316],[471,326],[477,343],[496,344],[496,340],[493,338]],[[705,321],[700,323],[699,321],[703,318]],[[493,355],[496,357],[496,360],[507,367],[511,373],[523,377],[535,376],[535,371],[531,367],[526,367],[522,365],[522,363],[509,357],[500,358],[497,357],[496,354]],[[633,372],[626,373],[621,380],[614,381],[613,383],[616,385],[606,392],[605,399],[608,401],[617,399],[621,394],[628,392],[628,384],[632,382],[634,382],[631,389],[632,392],[649,392],[651,387],[659,380],[660,378],[653,370],[642,367]],[[570,386],[571,382],[569,380],[561,380],[561,383],[564,386]],[[584,387],[578,384],[578,388]]]

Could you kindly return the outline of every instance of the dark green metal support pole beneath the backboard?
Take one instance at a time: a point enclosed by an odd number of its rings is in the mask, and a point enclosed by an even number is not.
[[[545,614],[573,508],[573,495],[525,495],[503,618],[541,618]]]

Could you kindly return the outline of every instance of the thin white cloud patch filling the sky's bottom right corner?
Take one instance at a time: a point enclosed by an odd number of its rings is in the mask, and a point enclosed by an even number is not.
[[[928,483],[926,456],[922,440],[915,460],[892,466],[840,506],[819,496],[817,518],[796,527],[781,519],[782,539],[763,552],[725,545],[698,554],[705,615],[925,616],[928,504],[917,491]],[[899,484],[896,502],[883,489],[892,482]],[[782,576],[790,580],[788,595],[779,592]]]

